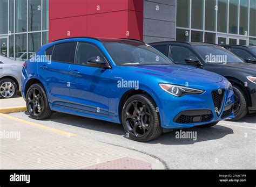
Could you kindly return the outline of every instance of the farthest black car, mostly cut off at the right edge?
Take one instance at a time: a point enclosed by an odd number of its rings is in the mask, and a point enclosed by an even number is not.
[[[223,45],[246,63],[255,63],[256,64],[256,46],[242,46],[242,45]]]

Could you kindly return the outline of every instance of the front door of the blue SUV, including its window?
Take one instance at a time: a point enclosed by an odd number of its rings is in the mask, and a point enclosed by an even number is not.
[[[109,112],[112,69],[87,63],[91,57],[105,59],[103,52],[89,42],[78,42],[75,63],[70,65],[71,105],[77,112],[105,116]]]

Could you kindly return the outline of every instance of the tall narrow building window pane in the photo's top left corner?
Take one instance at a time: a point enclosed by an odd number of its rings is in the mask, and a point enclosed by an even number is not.
[[[0,0],[0,34],[8,33],[8,0]]]

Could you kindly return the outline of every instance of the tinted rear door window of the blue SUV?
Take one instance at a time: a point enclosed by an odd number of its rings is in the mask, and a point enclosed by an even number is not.
[[[73,60],[71,59],[71,56],[74,46],[75,42],[66,42],[55,45],[52,53],[52,61],[72,62]]]

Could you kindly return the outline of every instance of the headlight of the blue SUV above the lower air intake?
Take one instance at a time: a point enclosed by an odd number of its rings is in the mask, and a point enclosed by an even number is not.
[[[166,91],[166,92],[168,92],[171,95],[176,96],[176,97],[181,97],[181,96],[184,96],[184,95],[191,95],[191,94],[201,94],[201,93],[204,92],[204,90],[182,87],[182,86],[173,85],[173,84],[160,83],[159,86],[164,91]]]

